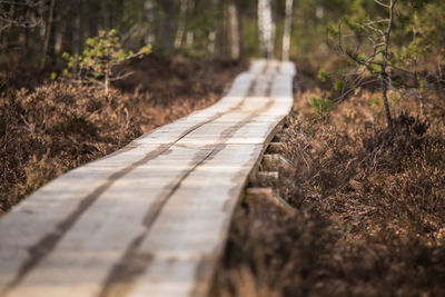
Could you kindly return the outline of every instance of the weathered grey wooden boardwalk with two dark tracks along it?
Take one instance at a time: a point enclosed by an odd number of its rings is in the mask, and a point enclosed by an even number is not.
[[[0,296],[205,296],[233,210],[289,112],[294,65],[51,181],[0,218]]]

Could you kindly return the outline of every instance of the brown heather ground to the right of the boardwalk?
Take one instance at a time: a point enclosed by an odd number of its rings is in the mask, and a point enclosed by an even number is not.
[[[319,115],[297,76],[280,141],[295,170],[275,188],[295,209],[245,201],[211,296],[445,296],[445,111],[399,100],[395,132],[378,93]]]

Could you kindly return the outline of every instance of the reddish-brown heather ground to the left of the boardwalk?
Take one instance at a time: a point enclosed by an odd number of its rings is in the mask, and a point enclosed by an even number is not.
[[[127,66],[134,75],[108,95],[32,68],[0,72],[0,215],[63,172],[216,102],[245,67],[151,55]]]

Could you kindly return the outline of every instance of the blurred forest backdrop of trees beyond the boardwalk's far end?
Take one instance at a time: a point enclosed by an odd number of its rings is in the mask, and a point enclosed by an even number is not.
[[[385,9],[372,0],[1,0],[0,65],[51,67],[63,62],[63,52],[80,55],[88,38],[111,29],[123,48],[151,44],[158,56],[259,57],[259,2],[271,6],[275,57],[283,56],[289,16],[291,59],[317,67],[334,57],[328,24],[386,17]],[[441,0],[398,1],[393,52],[422,41],[428,56],[437,56],[445,41],[444,7]]]

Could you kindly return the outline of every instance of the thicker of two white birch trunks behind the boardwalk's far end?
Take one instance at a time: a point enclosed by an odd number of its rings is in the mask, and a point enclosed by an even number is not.
[[[263,56],[274,57],[274,23],[270,0],[258,0],[258,32]]]

